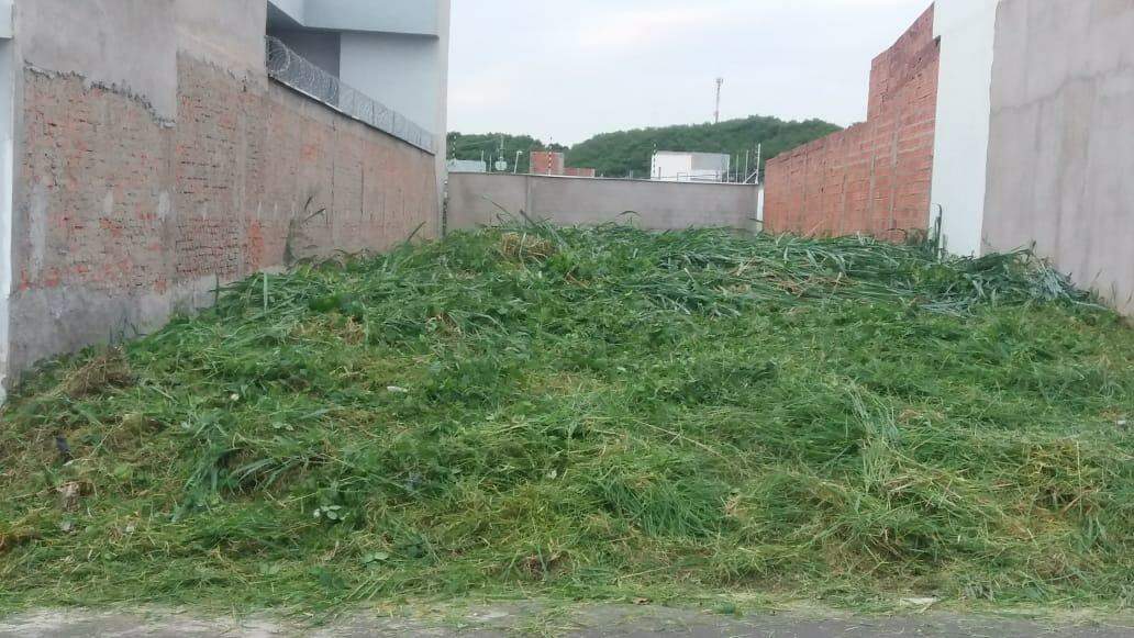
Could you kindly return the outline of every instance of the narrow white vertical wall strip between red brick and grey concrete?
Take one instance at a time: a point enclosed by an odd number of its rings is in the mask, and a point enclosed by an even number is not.
[[[992,50],[1000,0],[937,0],[941,70],[930,226],[941,214],[946,248],[981,250],[987,190]]]

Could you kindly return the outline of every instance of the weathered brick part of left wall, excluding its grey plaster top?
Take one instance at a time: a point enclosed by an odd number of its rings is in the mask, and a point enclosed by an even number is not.
[[[435,235],[434,158],[263,77],[179,56],[175,121],[24,71],[10,367],[132,337],[218,283]]]

